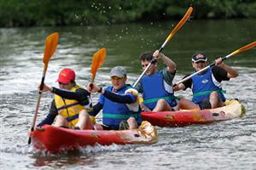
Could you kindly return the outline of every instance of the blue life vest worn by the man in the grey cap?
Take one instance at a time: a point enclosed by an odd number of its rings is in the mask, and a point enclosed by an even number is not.
[[[125,85],[124,88],[119,89],[116,94],[125,94],[125,90],[132,88],[131,86]],[[108,87],[105,90],[112,92],[113,87]],[[119,123],[123,120],[129,119],[131,116],[137,120],[137,123],[142,122],[141,109],[138,111],[131,111],[125,104],[113,102],[112,100],[104,97],[104,104],[102,108],[102,122],[108,127],[118,128]]]

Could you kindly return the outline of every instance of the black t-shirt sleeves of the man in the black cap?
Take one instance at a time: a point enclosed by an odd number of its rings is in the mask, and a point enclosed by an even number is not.
[[[218,82],[230,80],[230,78],[228,77],[228,72],[225,71],[223,68],[220,68],[216,65],[212,67],[212,75]],[[189,77],[189,76],[190,76],[190,74],[186,75],[185,77]],[[183,77],[183,78],[185,78],[185,77]],[[192,79],[190,78],[189,80],[183,82],[183,85],[185,86],[184,90],[187,88],[191,88],[192,87]]]

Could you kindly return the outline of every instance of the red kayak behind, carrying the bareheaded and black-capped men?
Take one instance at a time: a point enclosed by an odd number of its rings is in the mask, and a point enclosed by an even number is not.
[[[184,127],[192,124],[207,124],[229,120],[245,113],[245,107],[236,99],[226,102],[224,107],[207,110],[183,110],[143,112],[143,120],[159,127]]]

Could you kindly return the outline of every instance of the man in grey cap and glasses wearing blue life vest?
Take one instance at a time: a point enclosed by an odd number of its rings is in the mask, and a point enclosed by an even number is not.
[[[99,88],[89,84],[87,89],[100,95],[99,101],[89,112],[96,116],[102,110],[102,123],[96,124],[96,129],[122,130],[134,129],[142,122],[141,109],[137,90],[126,84],[127,75],[122,66],[113,67],[110,71],[112,86]]]

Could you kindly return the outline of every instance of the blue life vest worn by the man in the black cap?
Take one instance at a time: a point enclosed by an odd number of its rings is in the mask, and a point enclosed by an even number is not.
[[[192,72],[192,74],[195,71]],[[192,77],[192,92],[193,92],[193,99],[192,101],[196,104],[201,104],[203,99],[209,99],[210,94],[213,91],[218,92],[219,97],[225,101],[224,97],[224,90],[222,90],[220,86],[220,82],[217,80],[212,80],[212,68],[209,68],[206,73],[201,75],[195,75]],[[218,86],[217,86],[218,83]]]

